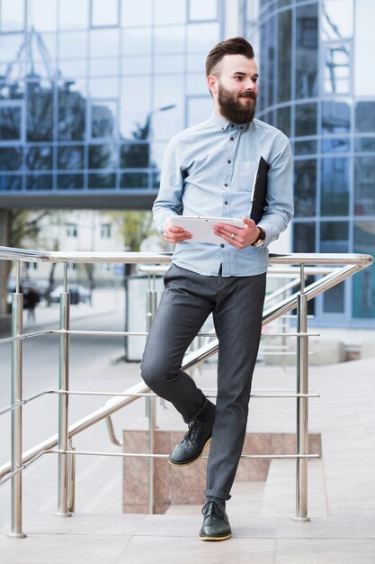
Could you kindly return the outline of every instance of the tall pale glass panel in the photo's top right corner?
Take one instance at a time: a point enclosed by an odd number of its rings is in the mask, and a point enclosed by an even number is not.
[[[375,3],[362,0],[355,10],[354,92],[374,96],[375,73],[369,69],[369,53],[375,51]]]

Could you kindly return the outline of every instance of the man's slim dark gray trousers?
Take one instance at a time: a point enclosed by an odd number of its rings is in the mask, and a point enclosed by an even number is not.
[[[142,378],[170,401],[186,423],[212,412],[215,423],[206,496],[230,499],[245,440],[248,403],[259,348],[265,274],[201,276],[172,265],[148,334]],[[181,365],[185,351],[212,313],[219,339],[216,409]]]

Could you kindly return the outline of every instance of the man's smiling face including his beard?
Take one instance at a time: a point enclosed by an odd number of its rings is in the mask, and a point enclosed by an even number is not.
[[[244,55],[226,55],[219,62],[216,92],[213,91],[219,114],[233,123],[253,121],[258,96],[258,69],[254,59]]]

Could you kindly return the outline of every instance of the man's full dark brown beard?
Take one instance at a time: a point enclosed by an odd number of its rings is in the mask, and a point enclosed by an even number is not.
[[[242,104],[239,98],[250,98],[252,101]],[[250,123],[254,119],[256,107],[256,95],[246,90],[242,95],[230,92],[219,84],[218,103],[220,114],[229,122]]]

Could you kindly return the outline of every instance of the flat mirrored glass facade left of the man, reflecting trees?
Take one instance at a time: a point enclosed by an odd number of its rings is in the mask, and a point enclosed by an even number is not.
[[[0,207],[149,208],[167,141],[210,112],[222,19],[220,0],[1,0]]]

